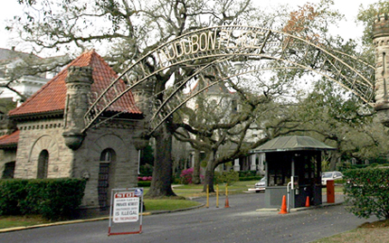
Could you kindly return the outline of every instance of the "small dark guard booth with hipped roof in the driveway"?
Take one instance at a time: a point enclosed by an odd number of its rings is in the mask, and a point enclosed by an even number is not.
[[[288,196],[288,208],[322,203],[321,154],[335,150],[309,136],[280,136],[251,151],[265,154],[265,207],[279,208]]]

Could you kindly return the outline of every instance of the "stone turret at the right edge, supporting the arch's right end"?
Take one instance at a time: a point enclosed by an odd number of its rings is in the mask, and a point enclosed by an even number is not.
[[[375,110],[377,117],[389,126],[389,20],[387,14],[377,16],[373,25],[375,44]]]

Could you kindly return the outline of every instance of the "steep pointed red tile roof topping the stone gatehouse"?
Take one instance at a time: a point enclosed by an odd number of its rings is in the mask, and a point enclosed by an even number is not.
[[[91,85],[93,93],[100,94],[103,89],[109,86],[112,80],[118,77],[118,74],[112,70],[108,63],[104,61],[96,51],[85,51],[67,66],[66,69],[58,73],[54,78],[47,82],[32,97],[28,98],[20,107],[9,112],[10,117],[37,115],[47,112],[63,112],[66,100],[65,79],[68,75],[68,68],[71,66],[87,67],[90,66],[92,78]],[[126,84],[120,80],[119,89],[126,89]],[[129,114],[141,114],[136,107],[131,92],[119,98],[109,111],[124,112]]]

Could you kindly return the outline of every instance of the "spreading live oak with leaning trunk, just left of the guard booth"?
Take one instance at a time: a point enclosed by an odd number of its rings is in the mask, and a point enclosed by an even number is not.
[[[178,112],[186,119],[180,119],[181,124],[176,123],[184,128],[176,129],[176,139],[206,154],[204,191],[208,187],[214,192],[214,169],[218,165],[247,156],[251,149],[271,138],[301,131],[303,121],[295,112],[297,106],[282,98],[291,96],[294,91],[291,81],[286,79],[288,76],[285,79],[261,79],[261,76],[261,72],[256,72],[250,78],[216,84],[214,89],[229,89],[216,98],[206,89],[206,94],[195,98],[195,108],[185,107]],[[202,81],[199,80],[197,88],[202,88]],[[209,81],[203,82],[207,84]],[[232,105],[232,101],[236,101],[237,106]],[[238,108],[232,110],[234,107]],[[253,134],[258,137],[250,141]]]

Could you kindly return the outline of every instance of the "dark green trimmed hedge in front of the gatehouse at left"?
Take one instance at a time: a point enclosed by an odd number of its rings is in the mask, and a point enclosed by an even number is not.
[[[0,180],[0,215],[71,219],[73,210],[81,205],[85,185],[80,179]]]

